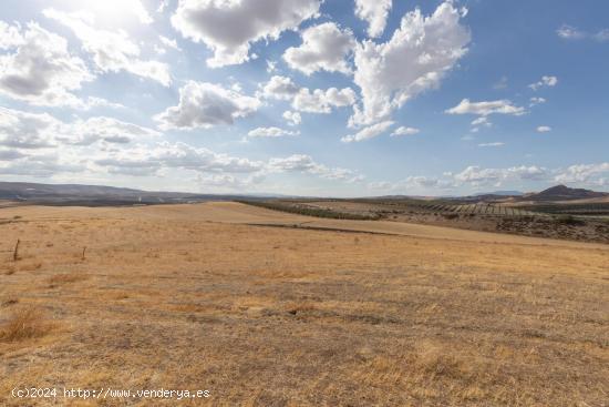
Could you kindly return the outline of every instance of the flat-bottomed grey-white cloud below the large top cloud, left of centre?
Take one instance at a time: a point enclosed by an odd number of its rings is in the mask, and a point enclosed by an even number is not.
[[[179,89],[179,102],[154,119],[161,129],[208,129],[218,124],[233,124],[260,106],[256,98],[246,96],[220,85],[188,81]]]

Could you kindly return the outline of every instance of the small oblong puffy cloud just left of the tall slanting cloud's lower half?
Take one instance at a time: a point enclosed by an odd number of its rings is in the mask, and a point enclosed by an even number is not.
[[[355,92],[351,88],[316,89],[311,92],[301,88],[292,101],[292,109],[308,113],[330,113],[332,108],[343,108],[355,103]]]

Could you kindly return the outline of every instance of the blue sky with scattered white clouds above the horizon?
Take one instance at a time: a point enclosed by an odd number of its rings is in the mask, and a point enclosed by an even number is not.
[[[609,191],[609,2],[4,0],[0,180]]]

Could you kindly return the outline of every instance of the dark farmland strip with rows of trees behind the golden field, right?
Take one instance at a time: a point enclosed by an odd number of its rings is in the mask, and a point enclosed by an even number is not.
[[[329,218],[382,220],[609,243],[609,216],[602,212],[606,204],[598,203],[517,206],[505,203],[415,199],[270,200],[246,203]]]

